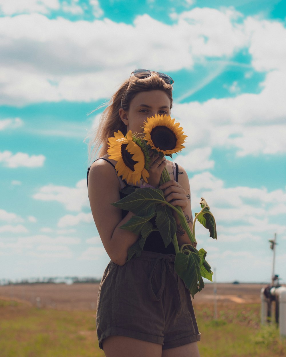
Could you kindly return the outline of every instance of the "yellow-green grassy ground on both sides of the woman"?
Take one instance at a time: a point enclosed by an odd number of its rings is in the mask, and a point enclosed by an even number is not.
[[[286,343],[273,326],[261,328],[259,304],[196,306],[201,357],[286,356]],[[103,357],[95,311],[61,311],[0,300],[1,357]]]

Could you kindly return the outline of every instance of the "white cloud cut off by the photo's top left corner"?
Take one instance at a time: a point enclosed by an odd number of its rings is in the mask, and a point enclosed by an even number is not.
[[[58,10],[58,0],[0,0],[0,15],[30,14],[40,12],[47,14],[50,10]]]

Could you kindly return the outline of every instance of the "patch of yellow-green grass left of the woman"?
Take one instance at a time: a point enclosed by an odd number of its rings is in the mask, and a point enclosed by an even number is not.
[[[103,357],[94,311],[37,309],[0,301],[1,357]]]

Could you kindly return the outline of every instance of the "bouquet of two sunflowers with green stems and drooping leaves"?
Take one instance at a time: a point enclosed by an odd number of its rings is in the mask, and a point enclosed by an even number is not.
[[[114,133],[114,137],[108,139],[109,148],[107,150],[109,159],[117,161],[115,170],[118,176],[122,176],[130,185],[135,185],[140,180],[148,183],[149,167],[152,163],[152,156],[170,156],[180,152],[184,146],[186,135],[183,135],[183,128],[175,119],[167,115],[155,115],[147,118],[144,123],[143,136],[132,134],[131,130],[124,136],[122,132]],[[164,169],[160,184],[170,180],[169,173]],[[140,256],[145,241],[153,231],[159,231],[165,247],[171,242],[174,245],[176,258],[175,269],[189,289],[191,295],[201,291],[204,287],[203,277],[212,281],[213,272],[205,260],[207,252],[201,248],[196,249],[197,242],[195,236],[195,224],[198,220],[209,230],[210,237],[217,239],[216,222],[209,211],[207,202],[202,198],[201,211],[195,214],[193,229],[191,230],[186,217],[179,206],[173,206],[165,200],[163,191],[158,188],[127,186],[122,190],[128,196],[114,206],[134,213],[134,216],[120,228],[133,231],[139,235],[139,239],[128,251],[128,260],[133,256]],[[176,231],[177,223],[172,210],[177,212],[183,229],[190,239],[189,244],[178,246]],[[156,225],[150,221],[155,218]]]

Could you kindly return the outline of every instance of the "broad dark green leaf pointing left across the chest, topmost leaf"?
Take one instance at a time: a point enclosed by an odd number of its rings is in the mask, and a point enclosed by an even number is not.
[[[156,206],[166,203],[163,191],[157,188],[137,188],[127,197],[112,203],[115,207],[133,212],[137,216],[148,216]]]

